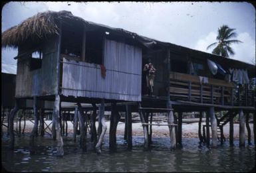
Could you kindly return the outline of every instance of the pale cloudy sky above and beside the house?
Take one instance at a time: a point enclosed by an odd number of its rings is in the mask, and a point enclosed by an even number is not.
[[[2,9],[2,32],[44,11],[70,11],[86,21],[211,53],[217,29],[228,25],[241,44],[230,58],[255,64],[255,7],[246,2],[10,2]],[[2,72],[16,73],[17,50],[2,48]]]

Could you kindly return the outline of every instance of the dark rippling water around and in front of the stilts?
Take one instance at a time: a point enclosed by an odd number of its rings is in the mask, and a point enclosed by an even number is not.
[[[108,150],[108,136],[102,154],[90,147],[82,154],[78,142],[64,138],[64,156],[56,156],[55,142],[37,137],[35,153],[29,148],[29,137],[16,137],[15,150],[8,150],[2,138],[2,166],[11,172],[248,172],[255,166],[255,146],[230,147],[228,141],[217,149],[199,146],[198,139],[183,139],[184,147],[170,151],[170,139],[153,138],[152,150],[143,150],[143,137],[133,137],[132,151],[126,150],[118,136],[116,152]],[[19,144],[19,145],[18,145]],[[89,144],[88,144],[89,145]]]

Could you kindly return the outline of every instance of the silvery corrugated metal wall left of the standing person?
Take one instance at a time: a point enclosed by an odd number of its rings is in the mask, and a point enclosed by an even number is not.
[[[105,79],[100,65],[63,58],[63,95],[141,101],[142,50],[114,40],[104,45]]]

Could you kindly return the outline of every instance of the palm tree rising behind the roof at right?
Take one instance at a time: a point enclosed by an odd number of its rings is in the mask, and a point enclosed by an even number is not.
[[[230,40],[231,38],[235,38],[237,36],[236,32],[233,32],[235,29],[230,29],[227,25],[223,25],[218,29],[218,35],[216,40],[218,42],[214,42],[207,46],[207,50],[212,48],[217,44],[217,46],[213,49],[212,53],[221,55],[224,57],[229,57],[229,54],[233,56],[235,54],[233,48],[230,47],[232,43],[239,43],[239,40]]]

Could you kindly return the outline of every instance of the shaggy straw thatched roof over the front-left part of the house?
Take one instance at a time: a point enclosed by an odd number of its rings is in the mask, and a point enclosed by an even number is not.
[[[155,42],[165,44],[164,42],[139,36],[138,34],[128,30],[115,29],[106,25],[84,21],[84,19],[72,15],[70,11],[46,11],[30,17],[11,29],[5,30],[5,32],[2,33],[2,46],[18,47],[25,43],[33,44],[34,42],[39,42],[45,38],[49,38],[54,34],[59,34],[60,21],[64,23],[80,23],[81,25],[86,25],[86,27],[94,29],[102,28],[118,32],[124,36],[133,37],[135,40],[138,40],[138,42],[141,42],[147,47],[151,46]]]

